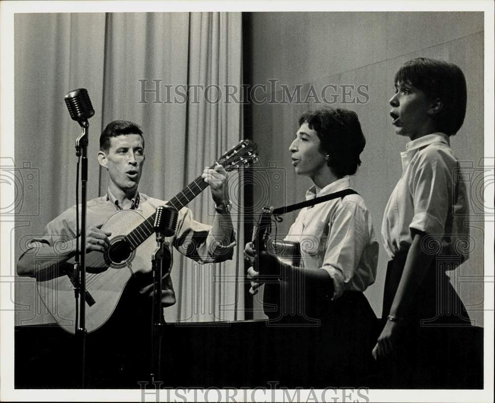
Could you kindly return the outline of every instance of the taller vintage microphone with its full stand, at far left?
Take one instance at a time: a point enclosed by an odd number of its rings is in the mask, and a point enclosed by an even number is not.
[[[80,296],[79,323],[76,320],[76,335],[81,341],[81,384],[82,388],[86,387],[86,184],[88,182],[88,119],[95,115],[95,110],[91,104],[90,97],[86,88],[78,88],[70,91],[64,96],[65,105],[69,110],[72,120],[76,120],[81,126],[81,135],[76,139],[76,157],[82,157],[81,165],[81,247],[76,242],[76,257],[74,260],[74,290],[76,295],[76,312],[77,298]],[[79,161],[77,163],[77,173],[79,174]],[[76,184],[78,189],[79,184]],[[76,190],[77,199],[77,190]],[[79,218],[78,203],[76,200],[76,221]],[[76,234],[79,228],[76,225]]]

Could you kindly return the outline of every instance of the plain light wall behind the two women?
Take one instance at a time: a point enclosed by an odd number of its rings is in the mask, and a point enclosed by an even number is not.
[[[484,236],[480,218],[482,202],[476,198],[480,178],[476,168],[484,154],[483,13],[257,12],[250,15],[250,31],[253,85],[269,85],[268,79],[278,79],[277,85],[286,84],[292,90],[297,84],[306,91],[310,84],[317,89],[325,84],[368,86],[368,102],[344,104],[340,96],[331,106],[351,109],[359,115],[367,144],[361,155],[363,164],[352,183],[364,197],[380,242],[383,211],[400,177],[399,152],[406,143],[406,139],[394,134],[389,116],[394,74],[403,62],[420,56],[454,62],[464,71],[468,86],[467,114],[461,130],[451,138],[451,146],[457,158],[466,163],[465,172],[470,178],[474,250],[471,259],[450,277],[471,319],[475,325],[482,326]],[[257,94],[258,99],[262,98],[261,92]],[[275,95],[281,99],[280,91]],[[325,106],[329,104],[274,102],[252,106],[253,139],[258,143],[263,166],[270,163],[272,166],[268,170],[270,184],[254,186],[256,205],[280,206],[304,199],[311,183],[294,173],[288,149],[297,130],[298,116],[308,109]],[[284,178],[277,179],[280,173]],[[278,227],[279,233],[288,230],[295,217],[296,213],[287,215]],[[386,263],[381,246],[378,278],[366,291],[379,316]],[[255,307],[259,307],[256,302]],[[256,316],[262,317],[259,313]]]

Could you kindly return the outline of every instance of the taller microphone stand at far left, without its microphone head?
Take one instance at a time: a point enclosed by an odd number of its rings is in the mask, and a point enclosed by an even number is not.
[[[81,346],[81,387],[86,388],[86,184],[88,182],[88,128],[87,120],[79,121],[81,135],[76,140],[76,156],[81,156],[81,248],[76,251],[74,261],[74,289],[76,311],[79,300],[79,323],[76,323],[76,336]],[[79,185],[79,184],[77,184]]]

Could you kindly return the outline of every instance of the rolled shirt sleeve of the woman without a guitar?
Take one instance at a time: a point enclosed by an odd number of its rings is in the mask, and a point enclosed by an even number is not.
[[[440,153],[425,153],[418,159],[409,189],[413,197],[414,216],[409,230],[442,237],[447,209],[451,203],[452,176]],[[412,238],[412,233],[411,233]]]

